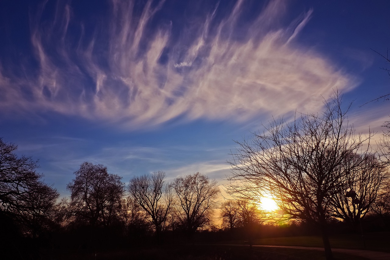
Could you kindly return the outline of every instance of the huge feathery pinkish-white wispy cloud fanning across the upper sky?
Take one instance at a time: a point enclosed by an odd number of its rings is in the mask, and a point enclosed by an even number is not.
[[[133,1],[112,0],[92,33],[60,2],[44,23],[43,4],[30,19],[38,68],[22,64],[20,77],[0,67],[0,109],[55,111],[127,128],[175,118],[246,121],[259,112],[318,110],[321,95],[358,82],[316,50],[291,43],[312,10],[284,28],[278,21],[287,1],[270,1],[238,38],[245,1],[222,19],[216,6],[188,28],[175,21],[155,26],[164,4],[148,1],[139,12]]]

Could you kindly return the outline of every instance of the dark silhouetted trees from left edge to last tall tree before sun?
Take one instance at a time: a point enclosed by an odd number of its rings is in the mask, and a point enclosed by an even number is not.
[[[16,150],[0,138],[1,239],[12,252],[21,254],[31,241],[70,249],[187,242],[197,230],[217,229],[220,189],[201,173],[168,183],[157,171],[125,185],[102,164],[84,162],[67,185],[70,197],[58,201],[38,162]]]

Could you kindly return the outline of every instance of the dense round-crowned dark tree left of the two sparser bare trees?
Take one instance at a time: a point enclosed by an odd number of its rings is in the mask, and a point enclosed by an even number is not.
[[[122,177],[109,174],[102,164],[84,162],[67,185],[76,221],[91,226],[109,225],[117,217],[124,193]]]

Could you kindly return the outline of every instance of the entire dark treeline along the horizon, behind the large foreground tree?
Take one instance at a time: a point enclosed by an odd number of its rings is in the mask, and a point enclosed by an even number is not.
[[[77,253],[151,243],[252,240],[316,232],[312,223],[303,219],[264,223],[278,219],[253,200],[222,200],[217,181],[201,173],[167,182],[165,173],[157,171],[135,176],[126,185],[121,176],[108,173],[102,164],[84,162],[67,185],[71,196],[58,202],[60,194],[43,182],[38,162],[18,157],[16,150],[15,144],[0,138],[0,238],[12,258],[44,258],[39,251],[42,246],[46,251]],[[330,230],[356,230],[356,221],[364,218],[366,231],[389,230],[390,188],[383,184],[388,183],[386,169],[372,167],[377,165],[375,157],[363,161],[363,170],[353,171],[351,180],[362,186],[358,190],[361,194],[356,196],[352,190],[339,194],[340,205],[335,208],[343,214],[334,210],[327,216]],[[374,176],[381,178],[380,187]],[[350,218],[342,217],[349,213]],[[26,256],[26,252],[30,253]]]

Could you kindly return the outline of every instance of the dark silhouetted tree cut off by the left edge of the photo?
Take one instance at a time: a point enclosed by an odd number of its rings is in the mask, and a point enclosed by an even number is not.
[[[41,181],[38,161],[18,157],[17,148],[0,138],[0,214],[17,221],[23,233],[35,238],[53,224],[59,194]]]

